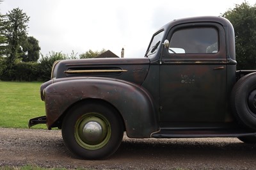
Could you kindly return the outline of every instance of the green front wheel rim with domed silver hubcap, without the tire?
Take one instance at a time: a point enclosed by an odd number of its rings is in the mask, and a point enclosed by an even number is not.
[[[97,150],[105,146],[111,137],[109,121],[97,112],[84,114],[77,120],[75,138],[87,150]]]

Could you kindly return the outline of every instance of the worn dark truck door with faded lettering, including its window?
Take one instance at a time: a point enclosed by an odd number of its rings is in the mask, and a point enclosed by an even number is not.
[[[225,32],[217,23],[173,27],[160,66],[160,121],[180,125],[225,121]]]

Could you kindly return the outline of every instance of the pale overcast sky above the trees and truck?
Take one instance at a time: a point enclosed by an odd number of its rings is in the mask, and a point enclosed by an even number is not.
[[[0,12],[20,8],[29,17],[29,36],[42,54],[77,55],[92,50],[111,50],[120,56],[143,57],[152,34],[167,22],[184,17],[220,16],[244,0],[4,0]],[[250,5],[256,1],[248,0]]]

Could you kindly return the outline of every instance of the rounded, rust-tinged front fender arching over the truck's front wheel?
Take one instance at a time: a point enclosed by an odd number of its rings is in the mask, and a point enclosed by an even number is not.
[[[129,137],[150,137],[159,130],[152,97],[141,86],[117,79],[87,77],[56,79],[44,90],[47,127],[85,99],[100,99],[116,107],[124,119]]]

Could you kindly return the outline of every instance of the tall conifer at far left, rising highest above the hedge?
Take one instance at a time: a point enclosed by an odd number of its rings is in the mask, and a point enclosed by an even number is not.
[[[22,42],[24,42],[27,38],[29,17],[26,13],[22,12],[19,8],[13,9],[11,12],[8,12],[6,15],[6,33],[5,36],[7,38],[7,50],[8,50],[8,58],[7,58],[7,66],[12,69],[15,65],[15,62],[20,57],[20,47],[22,46]]]

